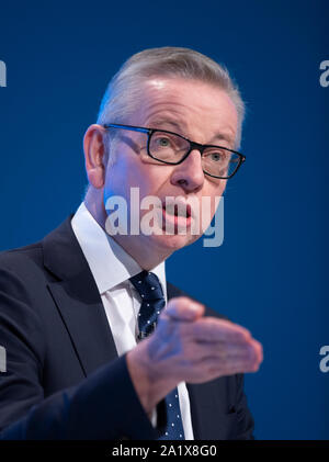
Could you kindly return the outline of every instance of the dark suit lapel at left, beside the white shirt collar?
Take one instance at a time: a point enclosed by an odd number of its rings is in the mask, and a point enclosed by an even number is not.
[[[44,238],[44,264],[57,279],[48,289],[88,375],[117,358],[117,352],[97,284],[71,228],[71,217]]]

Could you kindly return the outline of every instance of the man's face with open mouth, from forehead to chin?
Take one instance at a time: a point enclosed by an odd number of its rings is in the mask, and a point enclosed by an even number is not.
[[[139,109],[125,123],[175,132],[201,144],[235,147],[237,111],[227,93],[216,87],[195,80],[154,78],[145,83],[140,101]],[[193,150],[182,164],[174,166],[151,159],[147,155],[146,145],[146,134],[121,131],[114,145],[115,153],[111,153],[110,149],[104,203],[113,195],[125,198],[129,217],[131,188],[138,188],[140,200],[152,195],[159,198],[162,204],[167,196],[181,196],[182,201],[193,196],[200,206],[200,217],[204,212],[202,198],[207,196],[212,204],[213,216],[215,196],[223,194],[226,180],[204,174],[200,151]],[[111,156],[114,156],[113,162]],[[147,212],[140,211],[140,219]],[[166,210],[159,210],[158,216],[162,217],[163,223],[174,219]],[[126,247],[124,243],[128,238],[131,247],[157,251],[167,257],[172,251],[193,243],[203,234],[202,226],[197,235],[191,232],[191,219],[175,218],[175,225],[177,222],[186,221],[184,234],[163,232],[147,236],[141,233],[138,236],[117,235],[114,238],[123,247]],[[174,229],[177,230],[177,226]]]

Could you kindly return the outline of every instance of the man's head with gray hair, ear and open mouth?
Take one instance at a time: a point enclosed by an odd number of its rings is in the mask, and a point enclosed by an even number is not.
[[[140,52],[129,58],[109,84],[98,124],[84,136],[86,166],[90,188],[86,203],[104,226],[104,204],[121,195],[129,204],[131,188],[140,199],[181,196],[212,201],[224,192],[226,180],[204,173],[198,150],[193,149],[179,165],[161,164],[147,150],[146,133],[104,128],[116,123],[174,132],[206,145],[236,149],[240,144],[243,102],[228,72],[212,59],[186,48],[163,47]],[[167,143],[161,140],[161,143]],[[140,213],[140,217],[143,217]],[[146,213],[146,211],[145,211]],[[170,219],[166,213],[161,217]],[[202,235],[202,230],[200,233]],[[140,266],[151,267],[200,235],[137,235],[114,238]],[[148,258],[140,253],[148,252]],[[147,261],[146,261],[147,260]]]

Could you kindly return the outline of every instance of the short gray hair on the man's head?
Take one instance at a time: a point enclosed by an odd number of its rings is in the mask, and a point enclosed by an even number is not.
[[[140,101],[143,83],[154,77],[180,77],[217,86],[230,97],[238,113],[236,149],[240,146],[245,103],[228,70],[190,48],[164,46],[136,53],[113,76],[103,97],[98,124],[128,123]]]

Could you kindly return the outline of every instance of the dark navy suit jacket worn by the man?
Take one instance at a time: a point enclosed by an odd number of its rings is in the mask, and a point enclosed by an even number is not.
[[[0,255],[0,438],[156,439],[70,219]],[[242,374],[186,386],[195,439],[253,438]]]

